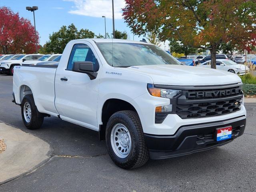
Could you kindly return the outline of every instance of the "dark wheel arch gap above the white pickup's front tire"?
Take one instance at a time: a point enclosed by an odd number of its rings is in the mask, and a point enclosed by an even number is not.
[[[130,102],[118,99],[118,98],[110,98],[106,100],[102,106],[100,120],[102,124],[99,126],[99,138],[100,140],[105,140],[105,132],[106,132],[106,124],[108,119],[114,114],[115,112],[122,111],[122,110],[132,110],[136,113],[136,108],[130,104]]]

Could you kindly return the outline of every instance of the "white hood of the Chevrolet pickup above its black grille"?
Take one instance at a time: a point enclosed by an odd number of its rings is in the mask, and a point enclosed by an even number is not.
[[[148,65],[118,68],[148,75],[154,84],[195,86],[224,85],[241,82],[240,77],[230,72],[184,65]]]

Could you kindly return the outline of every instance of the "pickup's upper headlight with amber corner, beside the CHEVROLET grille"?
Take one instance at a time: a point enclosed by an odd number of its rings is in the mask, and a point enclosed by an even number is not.
[[[181,90],[154,88],[153,84],[148,84],[148,92],[152,96],[168,99],[176,98],[178,95],[181,94]]]

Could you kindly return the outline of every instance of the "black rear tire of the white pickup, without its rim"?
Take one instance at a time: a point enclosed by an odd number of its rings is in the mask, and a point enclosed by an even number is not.
[[[26,103],[28,103],[30,105],[30,109],[31,109],[31,117],[30,117],[29,122],[25,119],[25,116],[24,116],[24,105]],[[39,129],[42,126],[43,121],[44,121],[44,116],[42,116],[42,114],[40,114],[40,112],[38,112],[32,94],[24,96],[22,103],[21,103],[21,114],[22,114],[22,120],[23,120],[26,128]]]

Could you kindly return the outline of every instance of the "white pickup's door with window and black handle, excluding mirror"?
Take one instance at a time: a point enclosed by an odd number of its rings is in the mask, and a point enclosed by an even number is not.
[[[55,105],[60,118],[98,130],[97,100],[99,78],[90,80],[84,73],[72,71],[74,62],[99,61],[91,44],[74,44],[66,68],[58,68],[55,78]]]

